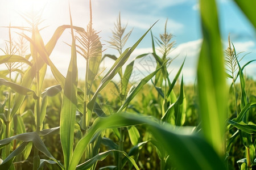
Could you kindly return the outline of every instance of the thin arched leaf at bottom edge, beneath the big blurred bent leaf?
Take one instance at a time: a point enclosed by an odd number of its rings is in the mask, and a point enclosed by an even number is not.
[[[126,156],[127,159],[130,160],[131,163],[133,163],[134,167],[138,170],[139,167],[138,165],[135,163],[135,160],[133,158],[131,158],[130,156],[128,156],[126,154],[126,152],[123,152],[123,151],[119,151],[119,150],[109,150],[109,151],[106,151],[106,152],[102,152],[96,156],[94,156],[92,159],[89,159],[87,160],[86,162],[80,164],[77,166],[77,170],[78,169],[89,169],[90,167],[92,167],[92,165],[96,162],[98,162],[99,160],[102,161],[104,160],[111,152],[121,152],[123,155]]]

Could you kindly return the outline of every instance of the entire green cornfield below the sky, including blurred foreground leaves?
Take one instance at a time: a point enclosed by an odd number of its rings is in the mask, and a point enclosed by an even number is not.
[[[255,2],[235,2],[256,27]],[[200,9],[203,42],[193,85],[183,82],[185,60],[170,79],[174,41],[167,24],[159,38],[150,28],[123,49],[131,31],[119,15],[108,41],[119,56],[102,55],[91,8],[86,28],[73,25],[71,17],[46,45],[40,16],[24,16],[30,29],[10,25],[0,56],[7,67],[0,71],[0,169],[253,169],[256,82],[243,73],[253,61],[241,66],[242,54],[230,40],[222,49],[215,1],[200,1]],[[18,44],[12,29],[21,32]],[[71,30],[72,44],[64,76],[50,57],[65,29]],[[126,63],[147,33],[152,53]],[[77,54],[86,60],[80,81]],[[135,61],[148,55],[157,63],[155,70],[133,83]],[[114,64],[102,75],[100,64],[107,58]],[[53,79],[46,78],[47,66]]]

